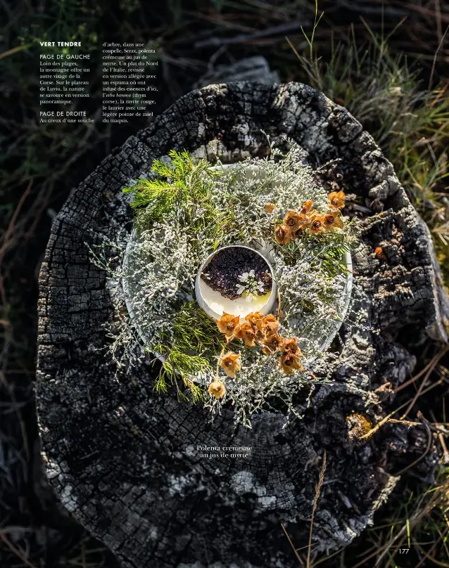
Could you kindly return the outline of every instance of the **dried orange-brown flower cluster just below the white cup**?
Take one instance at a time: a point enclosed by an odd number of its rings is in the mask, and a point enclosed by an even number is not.
[[[279,334],[279,320],[272,314],[264,316],[255,311],[246,316],[244,323],[239,323],[238,316],[223,314],[217,320],[217,327],[221,333],[225,333],[227,342],[236,337],[244,340],[246,347],[259,344],[266,355],[279,352],[281,354],[279,368],[286,375],[291,375],[293,370],[304,370],[303,363],[301,363],[303,354],[298,347],[296,337],[282,337]],[[222,356],[220,365],[228,377],[234,378],[236,372],[241,369],[240,355],[229,351]],[[210,392],[210,394],[214,393]],[[215,396],[218,398],[216,394]]]

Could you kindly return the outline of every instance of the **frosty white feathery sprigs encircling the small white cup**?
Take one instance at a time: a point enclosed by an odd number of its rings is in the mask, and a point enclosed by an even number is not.
[[[338,360],[336,354],[323,353],[322,344],[345,309],[342,254],[355,241],[355,226],[346,222],[343,230],[324,236],[276,243],[274,227],[288,209],[299,209],[306,200],[313,200],[318,211],[327,207],[327,193],[301,162],[294,143],[286,155],[272,148],[270,157],[239,162],[220,176],[205,169],[201,180],[208,199],[186,202],[151,226],[140,226],[139,235],[120,235],[115,243],[105,241],[93,252],[94,262],[110,273],[115,302],[110,352],[120,364],[131,365],[150,354],[166,356],[160,349],[176,341],[177,315],[194,299],[196,274],[208,255],[217,247],[236,244],[265,250],[281,297],[282,336],[298,337],[305,371],[287,376],[279,370],[279,355],[233,344],[241,354],[241,370],[234,379],[218,365],[220,348],[196,353],[191,372],[184,370],[182,378],[184,385],[194,381],[205,389],[217,378],[224,382],[225,397],[206,394],[205,406],[215,414],[232,401],[236,422],[248,426],[251,414],[260,408],[286,408],[287,415],[298,415],[293,396],[304,389],[307,404],[310,385],[329,382]],[[267,213],[267,202],[276,209]],[[241,275],[241,292],[254,293],[253,280],[249,273]]]

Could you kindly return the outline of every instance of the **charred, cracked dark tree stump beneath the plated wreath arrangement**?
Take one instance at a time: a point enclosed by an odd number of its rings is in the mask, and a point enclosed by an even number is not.
[[[282,413],[234,428],[231,411],[210,422],[201,404],[156,394],[148,361],[126,374],[104,347],[114,317],[107,275],[87,244],[113,238],[132,219],[122,188],[146,176],[156,157],[186,148],[215,162],[264,155],[293,138],[320,167],[328,191],[348,194],[362,213],[353,252],[362,328],[343,325],[334,385],[318,387],[303,420]],[[336,175],[334,175],[336,172]],[[314,553],[345,546],[408,463],[426,453],[426,428],[386,423],[393,389],[415,366],[411,346],[446,341],[449,309],[429,231],[360,123],[322,93],[298,83],[215,84],[192,91],[147,129],[113,150],[77,188],[53,224],[40,273],[36,385],[44,469],[68,509],[132,568],[267,568],[296,562],[308,541],[315,484],[327,470],[313,527]],[[379,331],[379,333],[377,333]],[[201,458],[198,446],[248,446],[240,459]],[[431,479],[432,451],[417,464]]]

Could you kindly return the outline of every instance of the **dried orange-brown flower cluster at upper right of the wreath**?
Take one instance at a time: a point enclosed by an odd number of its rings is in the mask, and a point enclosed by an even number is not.
[[[329,193],[328,200],[328,210],[324,213],[312,209],[312,200],[305,201],[299,211],[288,209],[282,225],[278,225],[274,231],[277,243],[288,245],[291,240],[298,238],[305,228],[308,228],[312,235],[334,231],[335,228],[343,228],[341,209],[345,205],[345,194],[343,191],[333,191]],[[273,203],[265,204],[267,213],[274,211],[274,209],[276,209],[276,206]]]

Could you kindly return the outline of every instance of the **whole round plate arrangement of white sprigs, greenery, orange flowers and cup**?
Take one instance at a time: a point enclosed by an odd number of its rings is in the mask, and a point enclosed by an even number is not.
[[[327,347],[348,312],[357,220],[293,141],[228,165],[169,155],[124,189],[136,215],[120,265],[92,253],[113,276],[110,353],[156,356],[159,392],[175,385],[213,414],[226,404],[247,426],[264,408],[290,415],[336,366]]]

